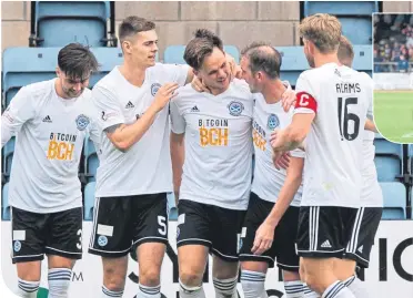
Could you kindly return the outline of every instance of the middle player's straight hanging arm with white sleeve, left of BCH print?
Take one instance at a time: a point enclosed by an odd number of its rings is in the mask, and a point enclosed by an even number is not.
[[[185,120],[179,113],[179,109],[175,102],[170,104],[171,115],[171,161],[172,161],[172,174],[173,174],[173,192],[175,195],[175,203],[178,206],[179,188],[181,187],[182,181],[182,167],[185,160],[184,150],[184,132],[185,132]]]

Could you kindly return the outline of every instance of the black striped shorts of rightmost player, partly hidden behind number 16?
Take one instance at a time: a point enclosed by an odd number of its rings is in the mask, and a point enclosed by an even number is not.
[[[383,208],[380,207],[362,207],[355,217],[355,225],[344,258],[355,260],[362,268],[369,268],[370,253],[382,218],[382,210]]]

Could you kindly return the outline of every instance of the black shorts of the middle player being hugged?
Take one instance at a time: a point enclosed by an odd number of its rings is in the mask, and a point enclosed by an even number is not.
[[[178,213],[178,247],[199,244],[223,260],[238,261],[244,210],[180,199]]]

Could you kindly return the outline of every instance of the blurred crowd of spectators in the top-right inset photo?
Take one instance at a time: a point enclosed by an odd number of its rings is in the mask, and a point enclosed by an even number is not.
[[[411,72],[413,14],[374,14],[374,72]]]

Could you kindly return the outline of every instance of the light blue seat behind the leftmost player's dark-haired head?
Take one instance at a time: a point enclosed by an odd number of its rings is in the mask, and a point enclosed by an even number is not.
[[[3,52],[3,90],[7,104],[24,85],[56,78],[58,53],[61,48],[8,48]],[[90,86],[123,61],[119,48],[91,49],[101,64],[100,72],[92,75]],[[24,56],[24,59],[21,59]],[[9,94],[10,93],[10,94]]]

